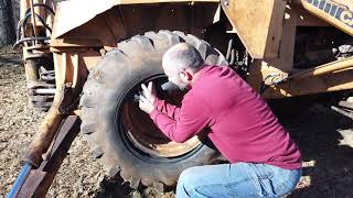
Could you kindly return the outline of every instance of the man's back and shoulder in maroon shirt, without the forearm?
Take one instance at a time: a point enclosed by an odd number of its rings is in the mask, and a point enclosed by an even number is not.
[[[288,132],[260,96],[232,69],[204,67],[185,95],[184,103],[204,107],[200,117],[210,117],[206,119],[211,128],[208,136],[232,163],[265,163],[286,169],[301,167],[300,152]]]

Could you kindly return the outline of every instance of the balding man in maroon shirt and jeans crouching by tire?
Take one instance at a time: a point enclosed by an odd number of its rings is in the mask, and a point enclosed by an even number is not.
[[[280,197],[301,176],[300,152],[266,102],[228,67],[207,66],[181,43],[165,52],[169,81],[189,91],[180,108],[160,100],[150,82],[141,85],[139,107],[171,140],[184,142],[202,129],[231,164],[184,170],[176,197]]]

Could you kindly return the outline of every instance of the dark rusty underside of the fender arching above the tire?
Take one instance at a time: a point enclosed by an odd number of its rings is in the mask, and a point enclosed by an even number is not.
[[[137,34],[178,30],[204,38],[213,24],[218,3],[149,3],[114,7],[60,38],[52,38],[51,51],[60,47],[101,47],[109,51],[117,42]],[[96,31],[99,30],[99,31]]]

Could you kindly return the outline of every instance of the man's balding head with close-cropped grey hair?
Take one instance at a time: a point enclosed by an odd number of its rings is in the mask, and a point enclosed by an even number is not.
[[[179,43],[165,52],[162,66],[169,81],[181,89],[189,89],[204,62],[195,47]]]

